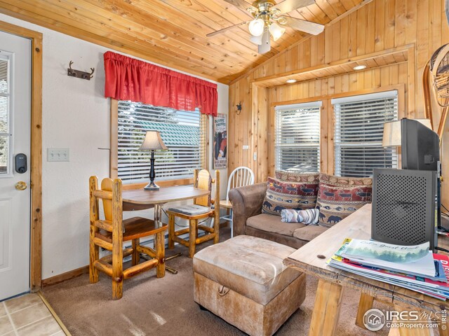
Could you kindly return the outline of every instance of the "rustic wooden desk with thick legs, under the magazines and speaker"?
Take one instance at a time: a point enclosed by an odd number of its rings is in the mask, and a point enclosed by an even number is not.
[[[370,239],[371,204],[367,204],[326,230],[284,260],[284,265],[319,277],[309,335],[335,334],[343,288],[356,288],[362,291],[356,323],[359,326],[363,325],[361,318],[371,308],[373,298],[393,305],[396,311],[415,310],[435,314],[442,309],[449,309],[448,302],[434,297],[328,266],[326,261],[340,248],[347,237]],[[439,325],[440,335],[449,335],[447,326]],[[397,330],[391,330],[390,335],[394,331]],[[422,329],[399,328],[398,331],[400,335],[429,335],[429,330]]]

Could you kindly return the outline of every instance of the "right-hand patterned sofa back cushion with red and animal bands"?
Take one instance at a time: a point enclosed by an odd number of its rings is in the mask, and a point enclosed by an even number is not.
[[[316,209],[319,225],[330,228],[371,202],[373,179],[320,174]]]

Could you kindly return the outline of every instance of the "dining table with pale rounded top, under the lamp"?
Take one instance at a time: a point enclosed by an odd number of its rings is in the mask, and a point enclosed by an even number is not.
[[[137,211],[152,209],[154,207],[154,222],[162,226],[163,205],[168,202],[192,200],[196,197],[209,195],[209,190],[194,188],[194,186],[170,186],[161,187],[159,190],[128,189],[122,192],[123,211]],[[177,258],[181,253],[176,253],[166,258],[166,261]],[[142,258],[144,255],[142,255]],[[177,270],[166,265],[166,270],[177,274]]]

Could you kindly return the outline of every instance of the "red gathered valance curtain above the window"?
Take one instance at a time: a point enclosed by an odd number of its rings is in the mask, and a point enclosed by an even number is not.
[[[207,80],[105,52],[105,97],[217,116],[217,85]]]

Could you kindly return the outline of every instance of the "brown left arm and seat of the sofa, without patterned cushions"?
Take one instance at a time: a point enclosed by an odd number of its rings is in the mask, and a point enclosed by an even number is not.
[[[249,235],[300,248],[328,229],[321,225],[283,223],[281,216],[262,214],[266,193],[265,182],[229,190],[234,236]]]

